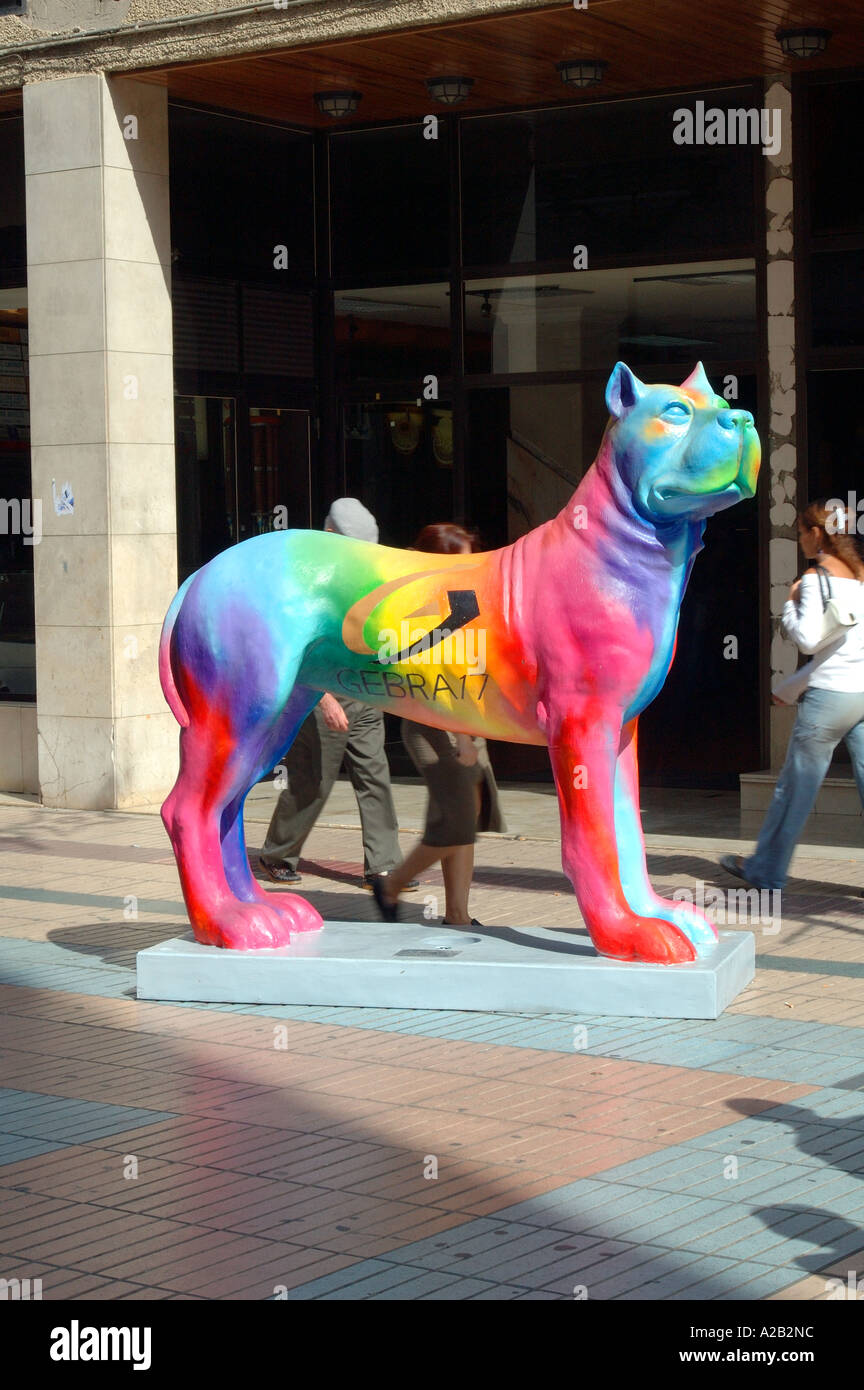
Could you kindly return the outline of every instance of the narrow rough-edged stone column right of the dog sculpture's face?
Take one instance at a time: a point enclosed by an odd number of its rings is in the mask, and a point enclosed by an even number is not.
[[[771,488],[771,678],[786,676],[797,666],[797,648],[779,630],[779,620],[789,585],[797,573],[797,434],[795,392],[795,245],[793,245],[793,164],[792,164],[792,92],[788,74],[765,82],[765,107],[781,111],[781,149],[765,156],[767,222],[767,299],[768,299],[768,375],[771,423],[765,449],[768,475],[763,486]],[[764,468],[763,468],[764,474]],[[771,706],[771,770],[778,771],[786,756],[786,744],[795,708]]]

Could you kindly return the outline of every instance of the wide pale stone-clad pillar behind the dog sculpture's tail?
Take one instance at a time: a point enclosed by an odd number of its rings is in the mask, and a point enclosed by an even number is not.
[[[176,764],[156,659],[176,588],[167,93],[31,83],[24,136],[40,792],[147,805]]]

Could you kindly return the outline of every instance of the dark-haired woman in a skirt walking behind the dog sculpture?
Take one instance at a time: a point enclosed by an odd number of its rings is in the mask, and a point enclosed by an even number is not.
[[[454,523],[424,527],[415,550],[470,555],[475,538]],[[479,926],[468,912],[478,828],[504,830],[495,773],[482,738],[450,734],[403,719],[401,741],[426,784],[429,803],[422,840],[407,859],[378,881],[375,897],[386,922],[397,920],[397,899],[411,878],[440,860],[445,877],[445,924]]]

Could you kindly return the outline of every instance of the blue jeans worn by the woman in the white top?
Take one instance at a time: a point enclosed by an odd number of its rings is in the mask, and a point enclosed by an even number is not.
[[[864,691],[804,691],[758,842],[743,862],[757,888],[785,887],[789,860],[842,738],[864,805]]]

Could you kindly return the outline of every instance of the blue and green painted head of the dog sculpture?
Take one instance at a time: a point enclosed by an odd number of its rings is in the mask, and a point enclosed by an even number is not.
[[[681,386],[646,386],[620,361],[606,403],[614,464],[643,520],[699,521],[754,495],[753,416],[714,395],[701,363]]]

